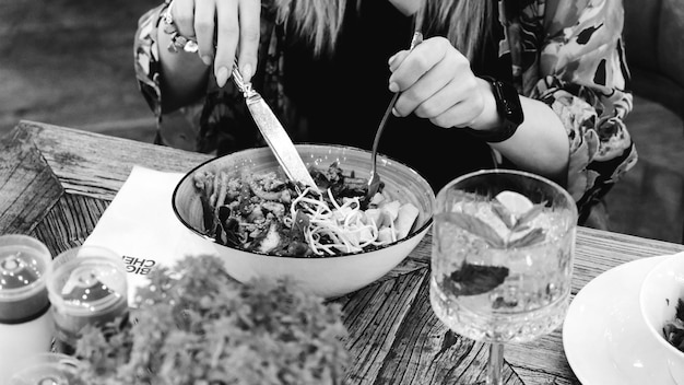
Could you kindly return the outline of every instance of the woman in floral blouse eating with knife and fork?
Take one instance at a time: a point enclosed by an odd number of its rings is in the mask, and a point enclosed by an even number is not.
[[[436,190],[492,166],[547,176],[582,223],[637,159],[622,23],[620,0],[174,0],[141,18],[135,62],[160,124],[180,108],[198,151],[260,140],[237,56],[295,140],[369,148],[400,92],[380,152]]]

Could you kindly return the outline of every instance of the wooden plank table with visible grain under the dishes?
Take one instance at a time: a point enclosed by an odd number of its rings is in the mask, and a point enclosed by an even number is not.
[[[187,172],[210,156],[22,121],[0,141],[0,233],[24,233],[54,255],[80,245],[134,164]],[[353,364],[347,384],[471,384],[487,346],[449,331],[428,299],[429,234],[386,278],[340,299]],[[683,245],[580,228],[573,294],[599,273]],[[507,384],[578,384],[562,332],[505,351]]]

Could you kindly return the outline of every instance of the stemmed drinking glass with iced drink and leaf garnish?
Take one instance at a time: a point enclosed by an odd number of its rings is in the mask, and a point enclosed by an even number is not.
[[[576,223],[569,194],[526,172],[479,171],[437,194],[431,304],[451,330],[490,343],[488,385],[503,384],[505,343],[563,323]]]

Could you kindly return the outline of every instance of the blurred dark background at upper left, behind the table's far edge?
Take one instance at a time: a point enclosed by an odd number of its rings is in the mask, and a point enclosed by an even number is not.
[[[20,119],[152,140],[133,35],[161,0],[0,0],[0,133]]]

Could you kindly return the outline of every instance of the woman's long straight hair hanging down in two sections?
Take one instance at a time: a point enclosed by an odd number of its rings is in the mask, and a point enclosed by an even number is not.
[[[315,55],[334,49],[347,2],[358,8],[362,0],[273,0],[276,21],[291,23],[297,36],[307,38]],[[367,0],[388,1],[388,0]],[[415,0],[416,31],[426,37],[447,37],[469,59],[475,58],[492,25],[492,0]],[[378,21],[380,23],[380,21]]]

